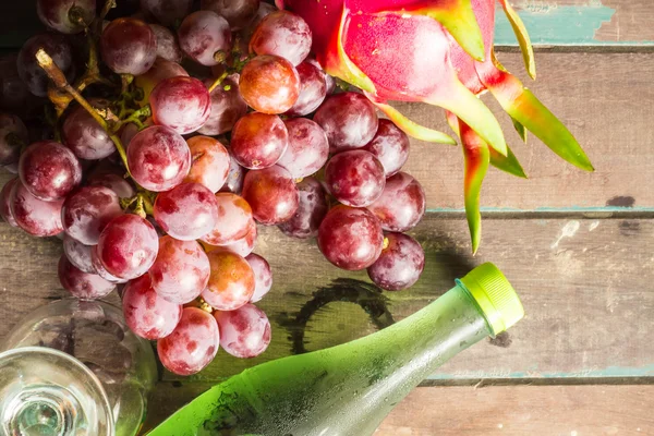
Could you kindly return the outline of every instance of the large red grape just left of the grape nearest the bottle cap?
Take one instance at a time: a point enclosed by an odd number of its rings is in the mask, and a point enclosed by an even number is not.
[[[383,245],[382,225],[367,209],[336,206],[318,230],[318,247],[327,261],[342,269],[367,268],[377,261]]]

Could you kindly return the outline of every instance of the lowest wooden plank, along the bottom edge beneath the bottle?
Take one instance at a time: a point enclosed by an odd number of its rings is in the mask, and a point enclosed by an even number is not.
[[[161,383],[144,428],[156,426],[209,386]],[[376,436],[652,435],[651,385],[420,387]]]

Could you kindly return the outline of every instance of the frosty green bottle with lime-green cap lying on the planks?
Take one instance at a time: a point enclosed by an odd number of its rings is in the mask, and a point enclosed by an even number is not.
[[[243,371],[204,392],[149,436],[366,436],[419,383],[524,312],[484,264],[428,306],[374,335]]]

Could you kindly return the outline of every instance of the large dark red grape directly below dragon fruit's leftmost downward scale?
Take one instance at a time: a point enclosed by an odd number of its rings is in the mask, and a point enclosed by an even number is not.
[[[327,133],[331,153],[360,148],[377,132],[375,106],[362,94],[340,93],[327,98],[314,121]]]

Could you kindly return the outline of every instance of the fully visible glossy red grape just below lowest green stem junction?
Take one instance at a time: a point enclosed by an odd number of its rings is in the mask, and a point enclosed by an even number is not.
[[[157,257],[159,238],[147,220],[125,214],[105,227],[97,255],[107,272],[121,279],[143,276]]]

